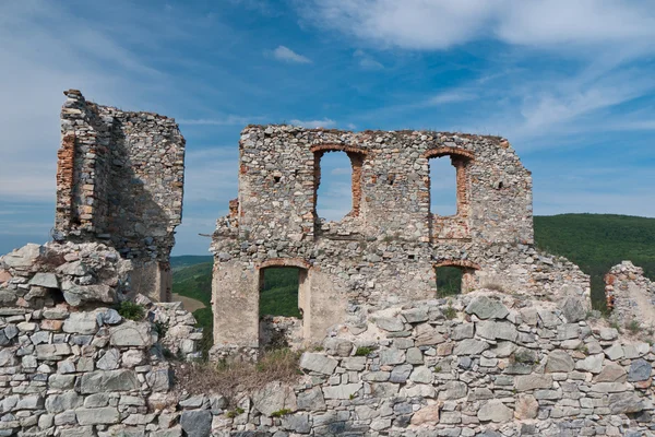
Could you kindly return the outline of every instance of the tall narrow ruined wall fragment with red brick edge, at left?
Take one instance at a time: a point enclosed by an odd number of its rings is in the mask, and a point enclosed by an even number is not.
[[[184,178],[178,126],[64,94],[55,239],[111,245],[133,261],[133,292],[168,300]]]

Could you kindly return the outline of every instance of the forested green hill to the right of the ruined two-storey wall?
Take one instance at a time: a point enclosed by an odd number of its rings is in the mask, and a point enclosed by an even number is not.
[[[535,217],[539,249],[567,257],[592,276],[592,303],[605,309],[607,271],[630,260],[655,280],[655,218],[610,214]]]

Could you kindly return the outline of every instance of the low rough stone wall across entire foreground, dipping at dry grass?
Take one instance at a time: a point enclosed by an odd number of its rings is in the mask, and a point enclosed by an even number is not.
[[[369,308],[302,354],[297,382],[227,398],[175,386],[202,333],[144,296],[144,319],[123,319],[108,303],[128,288],[129,261],[98,244],[0,257],[0,435],[655,435],[653,340],[587,319],[575,296]],[[265,326],[298,338],[293,319]]]

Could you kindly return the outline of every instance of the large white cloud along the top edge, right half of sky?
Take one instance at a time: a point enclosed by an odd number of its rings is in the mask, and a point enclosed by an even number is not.
[[[433,50],[492,37],[507,44],[568,50],[653,50],[648,0],[311,0],[305,20],[381,47]]]

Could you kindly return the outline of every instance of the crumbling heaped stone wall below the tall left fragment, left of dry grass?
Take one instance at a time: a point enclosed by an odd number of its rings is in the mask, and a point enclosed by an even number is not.
[[[181,436],[167,356],[198,358],[179,303],[114,308],[131,262],[97,243],[27,245],[0,257],[0,436]]]

